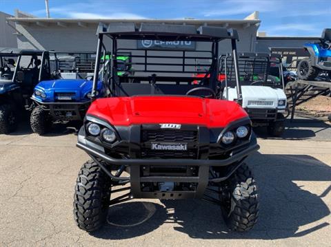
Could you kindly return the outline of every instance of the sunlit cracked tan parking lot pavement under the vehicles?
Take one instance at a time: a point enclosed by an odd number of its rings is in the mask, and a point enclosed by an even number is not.
[[[219,207],[199,200],[132,200],[110,207],[108,225],[88,234],[72,217],[88,159],[77,136],[63,126],[0,135],[0,246],[330,246],[330,124],[295,125],[283,140],[257,130],[261,149],[247,162],[261,211],[249,233],[228,231]]]

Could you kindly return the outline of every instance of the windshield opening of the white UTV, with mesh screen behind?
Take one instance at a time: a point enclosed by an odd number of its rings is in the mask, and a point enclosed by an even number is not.
[[[239,81],[241,86],[283,88],[281,60],[270,56],[239,56]],[[232,56],[220,58],[220,81],[225,87],[236,87]]]

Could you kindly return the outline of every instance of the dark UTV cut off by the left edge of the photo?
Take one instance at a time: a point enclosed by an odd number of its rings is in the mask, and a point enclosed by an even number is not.
[[[17,128],[17,118],[24,106],[30,105],[30,96],[39,80],[43,51],[0,47],[0,133]]]

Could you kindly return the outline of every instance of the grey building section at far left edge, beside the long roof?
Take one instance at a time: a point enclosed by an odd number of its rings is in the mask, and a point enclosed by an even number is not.
[[[15,30],[6,23],[6,18],[12,17],[0,11],[0,47],[17,48],[17,37],[13,34]]]

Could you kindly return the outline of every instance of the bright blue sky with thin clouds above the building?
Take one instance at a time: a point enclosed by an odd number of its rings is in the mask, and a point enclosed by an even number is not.
[[[268,36],[320,36],[331,28],[330,0],[49,0],[54,18],[243,19],[258,10]],[[0,11],[46,17],[44,0],[0,0]]]

